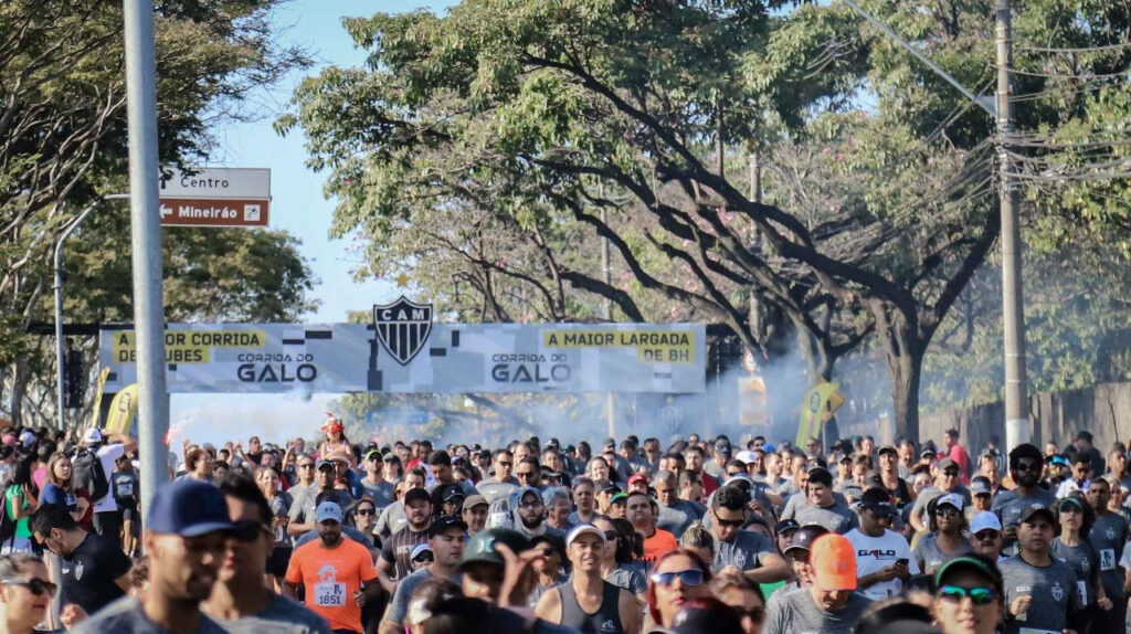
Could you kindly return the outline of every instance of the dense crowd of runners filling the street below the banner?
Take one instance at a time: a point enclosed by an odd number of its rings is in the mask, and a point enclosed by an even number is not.
[[[320,434],[185,442],[141,516],[128,437],[5,429],[5,632],[1131,632],[1128,451],[1086,431],[976,458]]]

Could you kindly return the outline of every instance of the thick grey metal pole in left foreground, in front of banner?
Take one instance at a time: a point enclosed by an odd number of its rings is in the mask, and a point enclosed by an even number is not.
[[[157,186],[157,69],[153,2],[123,0],[126,96],[130,142],[130,238],[133,259],[133,323],[137,337],[138,455],[141,514],[169,479],[169,393],[165,390],[165,313],[162,299],[161,201]]]

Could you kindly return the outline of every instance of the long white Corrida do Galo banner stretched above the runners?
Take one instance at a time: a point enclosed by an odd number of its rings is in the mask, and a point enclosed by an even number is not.
[[[688,323],[169,324],[165,358],[174,393],[687,393],[706,340]],[[137,380],[135,355],[132,331],[102,331],[107,392]]]

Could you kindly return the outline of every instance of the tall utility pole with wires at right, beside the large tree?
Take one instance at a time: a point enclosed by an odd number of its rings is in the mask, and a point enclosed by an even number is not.
[[[998,168],[1001,177],[1001,290],[1002,329],[1005,340],[1005,449],[1029,442],[1028,376],[1025,368],[1025,297],[1021,287],[1021,223],[1017,186],[1010,162],[1009,134],[1013,131],[1010,101],[1012,27],[1009,0],[995,9],[998,61]]]

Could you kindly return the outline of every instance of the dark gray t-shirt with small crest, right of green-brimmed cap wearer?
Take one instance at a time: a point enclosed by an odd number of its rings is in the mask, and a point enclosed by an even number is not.
[[[998,563],[1005,580],[1005,606],[1018,597],[1029,596],[1029,609],[1020,615],[1008,615],[1005,634],[1055,632],[1068,627],[1069,614],[1080,607],[1076,592],[1076,573],[1068,564],[1053,559],[1052,565],[1037,567],[1021,559],[1009,557]]]

